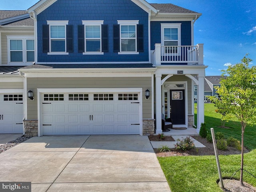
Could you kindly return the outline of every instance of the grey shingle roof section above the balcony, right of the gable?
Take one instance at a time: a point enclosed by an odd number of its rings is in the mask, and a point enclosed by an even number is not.
[[[176,6],[174,4],[151,3],[154,8],[159,10],[160,13],[197,13],[186,8]]]

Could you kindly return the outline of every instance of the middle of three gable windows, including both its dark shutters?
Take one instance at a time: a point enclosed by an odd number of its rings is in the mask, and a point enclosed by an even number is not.
[[[84,20],[78,25],[78,52],[104,54],[108,52],[108,25],[103,20]]]

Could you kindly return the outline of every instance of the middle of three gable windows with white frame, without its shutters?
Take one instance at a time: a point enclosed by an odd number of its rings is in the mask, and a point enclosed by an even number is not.
[[[99,21],[82,21],[84,25],[84,49],[83,54],[103,54],[102,52],[102,31],[104,29],[105,40],[108,40],[107,30],[105,31],[106,25],[103,26],[103,20]],[[79,36],[79,35],[78,35]],[[82,38],[83,40],[83,38]],[[106,43],[104,41],[104,43]],[[106,45],[108,46],[108,45]],[[108,49],[108,48],[107,48]],[[105,52],[107,52],[105,50]]]

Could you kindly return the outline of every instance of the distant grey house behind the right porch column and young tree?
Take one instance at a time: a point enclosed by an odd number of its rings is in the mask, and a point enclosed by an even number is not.
[[[225,76],[224,76],[225,77]],[[205,76],[204,78],[204,102],[208,102],[208,96],[217,96],[215,86],[220,87],[222,76]],[[197,86],[194,86],[194,102],[197,102]]]

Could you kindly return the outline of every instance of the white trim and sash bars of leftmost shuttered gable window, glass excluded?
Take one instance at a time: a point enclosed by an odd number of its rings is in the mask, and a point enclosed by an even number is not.
[[[67,52],[67,32],[66,32],[66,25],[68,25],[68,20],[64,20],[64,21],[56,21],[56,20],[52,20],[49,21],[47,20],[47,24],[49,25],[49,50],[50,52],[48,52],[48,55],[68,55]],[[55,39],[55,38],[51,38],[51,26],[65,26],[65,52],[52,52],[52,44],[51,44],[51,40]],[[57,38],[60,39],[60,38]],[[62,38],[64,39],[64,38]]]

